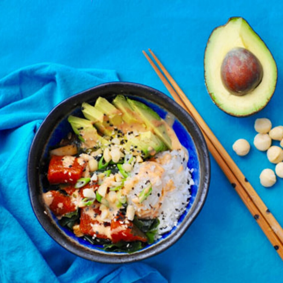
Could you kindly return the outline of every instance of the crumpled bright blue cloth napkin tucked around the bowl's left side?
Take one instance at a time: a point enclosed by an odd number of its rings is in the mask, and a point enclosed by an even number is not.
[[[115,71],[48,63],[0,80],[1,282],[167,282],[141,262],[101,264],[71,254],[41,227],[28,196],[28,152],[48,112],[71,95],[117,80]]]

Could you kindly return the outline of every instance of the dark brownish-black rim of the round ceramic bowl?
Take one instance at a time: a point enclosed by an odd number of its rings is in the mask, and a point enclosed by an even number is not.
[[[112,89],[120,89],[120,92],[124,94],[126,91],[129,91],[128,95],[131,95],[133,97],[136,96],[137,98],[144,98],[153,104],[157,104],[161,108],[165,108],[166,111],[173,113],[173,115],[178,114],[179,122],[183,125],[183,127],[185,127],[193,140],[194,147],[196,148],[198,155],[199,166],[201,167],[202,165],[204,172],[206,172],[206,174],[200,172],[200,183],[198,184],[198,191],[194,203],[190,208],[190,211],[184,218],[186,222],[184,222],[183,220],[182,223],[178,225],[176,231],[172,232],[165,239],[162,239],[156,244],[153,244],[150,247],[134,252],[132,254],[118,254],[91,250],[68,238],[56,224],[54,225],[54,221],[50,221],[51,219],[48,216],[48,213],[46,213],[45,209],[42,209],[44,208],[44,204],[40,202],[40,196],[42,195],[42,192],[40,192],[39,194],[39,174],[38,177],[34,178],[34,176],[36,176],[36,172],[38,172],[39,170],[38,161],[42,158],[44,149],[48,143],[48,139],[42,138],[42,133],[45,133],[46,130],[51,130],[48,133],[48,138],[50,138],[52,131],[57,127],[60,121],[64,120],[64,118],[66,118],[66,116],[69,115],[70,112],[74,111],[78,106],[80,106],[83,101],[95,100],[96,98],[98,98],[98,96],[101,95],[102,92],[104,93],[104,97],[107,96],[106,94],[108,92],[114,94],[112,92]],[[138,92],[145,93],[143,93],[143,95],[138,95]],[[118,91],[116,91],[115,94],[118,94]],[[84,97],[84,99],[80,99],[81,97]],[[66,105],[68,107],[66,107]],[[170,105],[170,109],[168,109],[168,105]],[[63,110],[66,108],[69,110],[71,109],[71,111],[64,112]],[[56,117],[56,120],[54,120],[54,115]],[[51,125],[54,126],[51,127]],[[188,130],[188,126],[190,126],[190,130]],[[195,139],[193,138],[192,133],[195,135]],[[197,144],[196,140],[199,141]],[[42,144],[43,146],[41,146]],[[127,263],[142,260],[153,255],[157,255],[173,245],[179,238],[182,237],[182,235],[185,233],[185,231],[188,229],[188,227],[195,220],[195,218],[203,208],[210,183],[209,152],[203,134],[194,119],[172,98],[160,92],[159,90],[145,86],[143,84],[130,82],[103,83],[72,95],[57,104],[48,113],[48,115],[45,117],[38,130],[36,131],[29,150],[27,170],[31,206],[37,220],[39,221],[43,229],[51,236],[51,238],[53,238],[58,244],[60,244],[68,251],[82,258],[102,263]],[[39,186],[39,188],[37,188],[37,186]]]

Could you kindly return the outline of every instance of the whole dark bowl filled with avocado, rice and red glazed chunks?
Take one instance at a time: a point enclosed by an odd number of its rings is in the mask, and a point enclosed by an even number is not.
[[[171,98],[106,83],[58,104],[28,157],[31,205],[70,252],[124,263],[174,244],[201,211],[210,160],[203,135]]]

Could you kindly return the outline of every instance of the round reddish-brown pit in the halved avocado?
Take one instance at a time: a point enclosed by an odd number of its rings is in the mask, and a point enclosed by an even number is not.
[[[255,89],[263,77],[258,58],[249,50],[236,47],[230,50],[221,65],[221,79],[233,95],[245,95]]]

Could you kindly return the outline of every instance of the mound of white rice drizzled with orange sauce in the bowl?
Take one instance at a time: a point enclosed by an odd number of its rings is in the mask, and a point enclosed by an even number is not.
[[[127,179],[127,182],[134,183],[128,202],[134,206],[136,214],[141,218],[159,218],[157,238],[177,225],[188,205],[194,181],[187,162],[186,149],[161,152],[155,156],[154,162],[136,163]],[[144,174],[141,175],[141,171]],[[136,182],[133,182],[135,178]],[[136,203],[135,198],[149,182],[152,184],[151,194],[141,204]],[[171,184],[170,190],[168,184]]]

